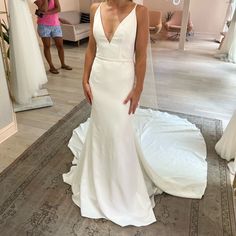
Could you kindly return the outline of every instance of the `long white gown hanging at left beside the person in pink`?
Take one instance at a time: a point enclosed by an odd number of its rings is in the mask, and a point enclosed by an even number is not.
[[[11,89],[19,104],[29,104],[47,75],[27,0],[9,0]]]

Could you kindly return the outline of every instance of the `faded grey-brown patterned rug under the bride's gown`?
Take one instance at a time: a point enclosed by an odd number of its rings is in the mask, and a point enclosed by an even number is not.
[[[184,114],[178,115],[196,124],[207,143],[208,186],[203,199],[157,196],[157,222],[146,227],[122,228],[110,221],[81,217],[61,175],[69,170],[73,158],[67,148],[72,130],[89,113],[90,106],[81,102],[0,175],[0,235],[236,235],[229,173],[214,150],[222,133],[221,122]]]

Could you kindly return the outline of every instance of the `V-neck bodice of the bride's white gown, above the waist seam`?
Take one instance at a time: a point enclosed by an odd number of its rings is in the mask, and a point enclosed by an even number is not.
[[[109,41],[102,24],[101,4],[94,16],[93,34],[97,44],[96,57],[111,61],[133,61],[137,30],[136,6],[120,22]]]

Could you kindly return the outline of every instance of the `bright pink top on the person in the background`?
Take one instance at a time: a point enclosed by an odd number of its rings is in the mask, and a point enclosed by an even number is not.
[[[40,0],[40,1],[42,1],[42,0]],[[46,0],[46,1],[48,1],[48,0]],[[48,10],[51,10],[54,7],[55,7],[55,1],[54,0],[49,0]],[[50,25],[50,26],[60,25],[58,13],[54,13],[54,14],[50,14],[50,15],[44,15],[42,18],[38,17],[37,23],[39,25]]]

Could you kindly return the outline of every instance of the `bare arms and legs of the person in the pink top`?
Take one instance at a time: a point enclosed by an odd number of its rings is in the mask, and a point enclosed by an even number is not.
[[[48,0],[37,0],[34,3],[38,6],[38,9],[40,12],[42,12],[44,15],[52,15],[57,12],[61,11],[61,6],[59,3],[59,0],[55,1],[55,7],[53,9],[48,9]],[[44,48],[44,55],[48,62],[48,65],[50,67],[50,72],[54,74],[58,74],[58,70],[55,68],[52,62],[50,47],[51,47],[51,39],[50,37],[43,37],[41,38],[43,42],[43,48]],[[63,48],[63,38],[62,37],[54,37],[55,45],[57,47],[58,56],[61,62],[61,68],[66,70],[71,70],[72,68],[65,64],[65,56],[64,56],[64,48]]]

